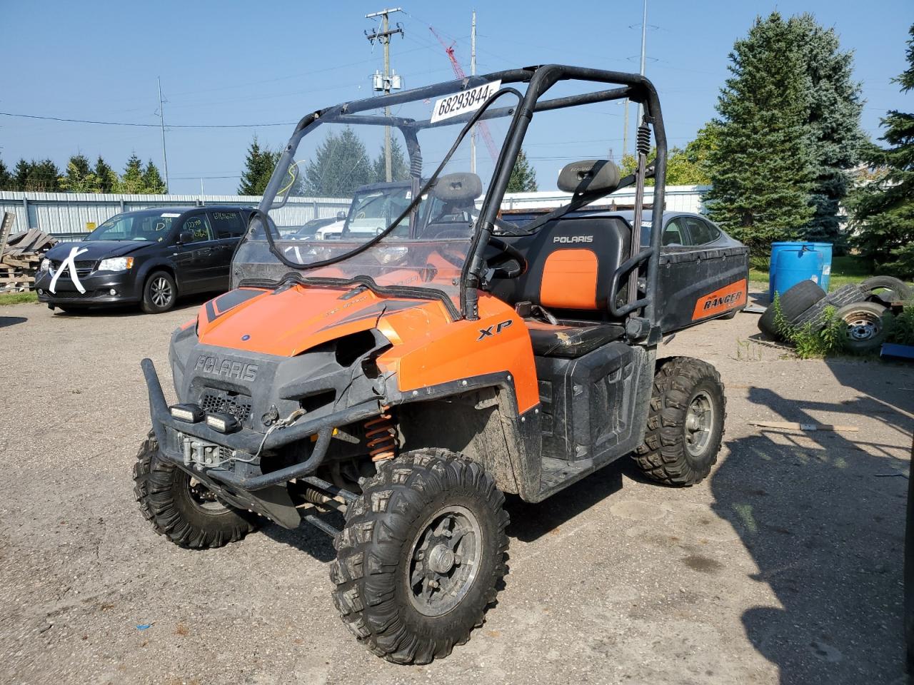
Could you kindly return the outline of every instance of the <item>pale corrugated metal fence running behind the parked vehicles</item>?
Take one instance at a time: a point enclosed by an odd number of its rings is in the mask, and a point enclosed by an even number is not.
[[[707,185],[670,185],[666,188],[666,209],[700,212],[701,196]],[[644,189],[651,202],[653,186]],[[539,192],[505,195],[505,209],[552,208],[569,201],[568,193]],[[631,205],[634,190],[626,188],[611,195],[620,205]],[[0,191],[0,212],[16,215],[14,232],[39,228],[51,235],[83,233],[87,223],[96,226],[121,212],[178,205],[251,205],[260,204],[259,195],[94,195],[90,193],[16,193]],[[273,210],[271,216],[280,227],[302,226],[314,218],[329,218],[346,211],[349,200],[338,197],[292,197],[286,205]]]

